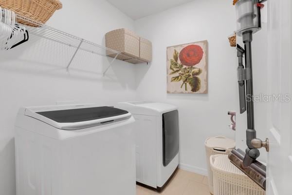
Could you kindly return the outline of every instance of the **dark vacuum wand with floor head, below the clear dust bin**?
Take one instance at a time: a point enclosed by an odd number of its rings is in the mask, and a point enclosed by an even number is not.
[[[252,64],[252,41],[253,32],[247,31],[242,34],[244,49],[237,45],[238,57],[238,88],[240,113],[247,111],[247,130],[245,153],[240,149],[233,150],[229,154],[230,161],[243,173],[249,176],[262,189],[266,189],[266,166],[256,161],[260,155],[258,148],[268,145],[267,141],[262,142],[256,138],[254,120],[254,91],[253,91],[253,64]],[[243,65],[243,55],[245,56],[245,67]],[[246,89],[246,91],[245,91]]]

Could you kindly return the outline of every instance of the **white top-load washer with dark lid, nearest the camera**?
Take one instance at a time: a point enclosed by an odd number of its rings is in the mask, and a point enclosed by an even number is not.
[[[17,195],[135,195],[133,124],[113,107],[21,108]]]

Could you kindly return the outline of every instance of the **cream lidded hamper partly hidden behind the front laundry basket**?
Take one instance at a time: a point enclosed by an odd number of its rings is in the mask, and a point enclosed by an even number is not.
[[[210,156],[212,155],[229,155],[235,149],[235,140],[223,136],[209,137],[205,141],[207,168],[208,168],[208,184],[211,194],[213,190],[213,176],[210,168]]]

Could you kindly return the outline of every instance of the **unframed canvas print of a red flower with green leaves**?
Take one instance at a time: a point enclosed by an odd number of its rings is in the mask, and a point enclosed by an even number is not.
[[[167,47],[167,93],[208,93],[207,40]]]

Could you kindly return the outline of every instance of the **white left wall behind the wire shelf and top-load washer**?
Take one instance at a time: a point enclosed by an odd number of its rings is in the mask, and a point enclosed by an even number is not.
[[[106,32],[121,27],[133,30],[133,20],[106,0],[62,2],[63,9],[48,22],[55,28],[103,45]],[[67,73],[65,67],[73,51],[34,37],[14,50],[0,51],[1,195],[16,194],[14,121],[20,106],[70,100],[113,105],[117,101],[135,100],[133,65],[116,61],[103,78],[102,71],[110,59],[80,52]]]

